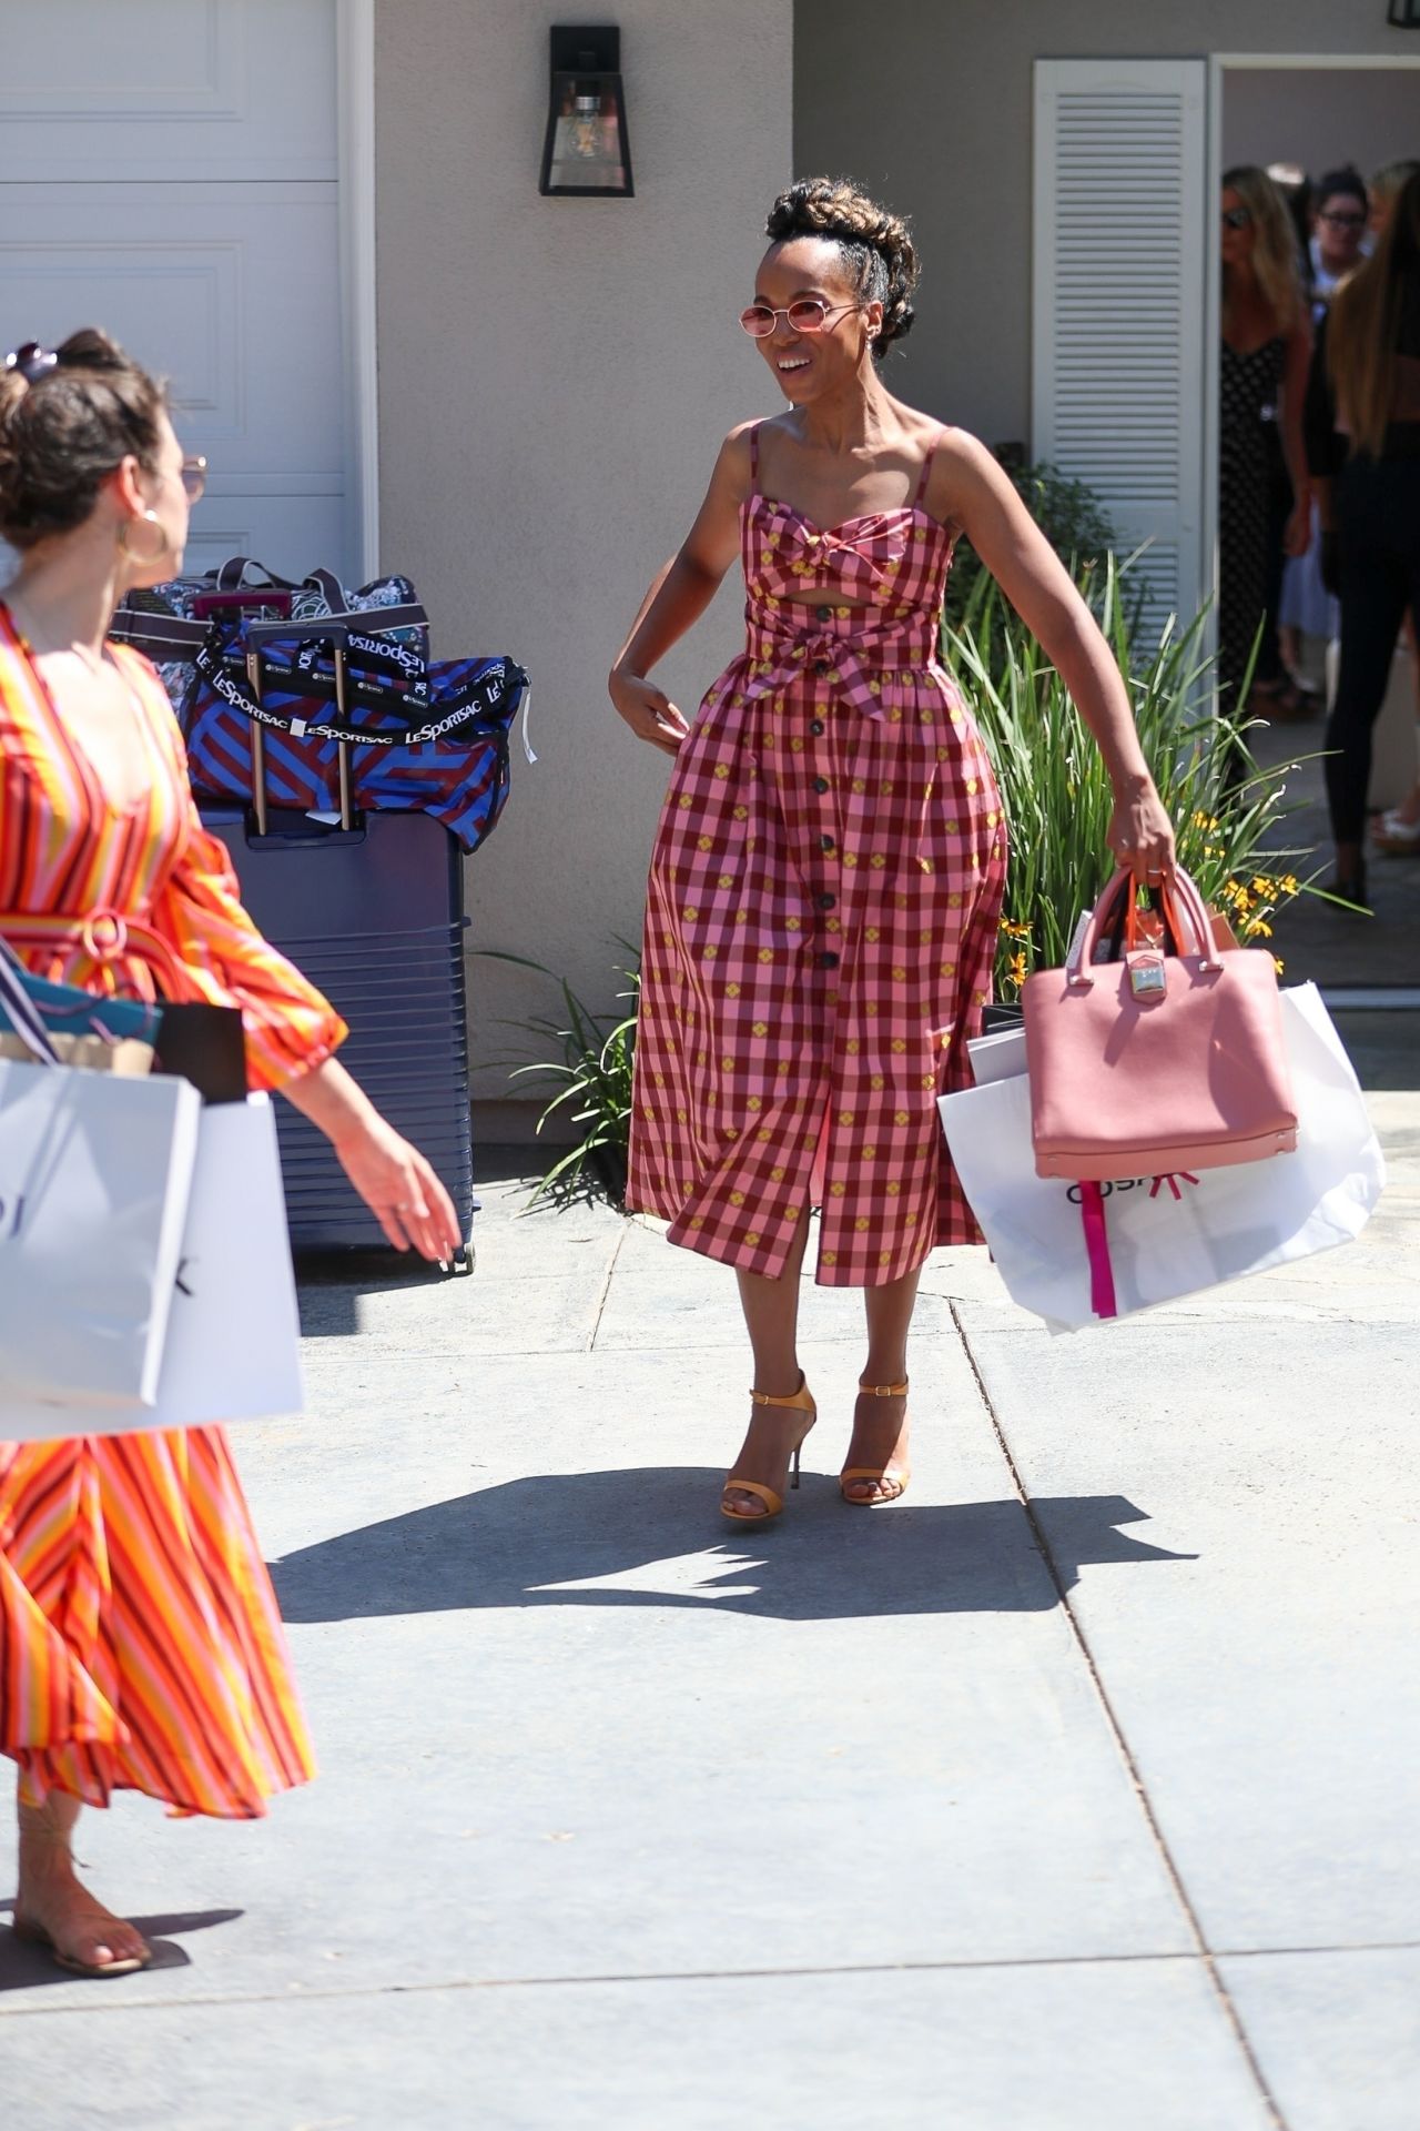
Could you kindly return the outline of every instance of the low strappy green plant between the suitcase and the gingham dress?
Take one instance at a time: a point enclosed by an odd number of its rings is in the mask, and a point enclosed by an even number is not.
[[[641,970],[630,942],[620,940],[617,946],[630,957],[630,965],[617,965],[617,976],[624,976],[630,985],[628,991],[617,991],[617,999],[632,1002],[630,1014],[611,1023],[607,1016],[598,1016],[583,1006],[566,978],[554,978],[562,993],[562,1019],[549,1021],[545,1014],[534,1014],[517,1023],[517,1027],[560,1048],[560,1057],[517,1066],[511,1074],[513,1080],[532,1074],[558,1089],[536,1121],[539,1136],[549,1119],[560,1117],[568,1106],[575,1106],[571,1108],[568,1123],[583,1127],[581,1138],[558,1155],[539,1183],[532,1193],[534,1204],[543,1193],[549,1193],[558,1204],[592,1191],[600,1191],[613,1206],[620,1206],[626,1198],[626,1142],[630,1134],[630,1085],[632,1059],[637,1055]],[[541,976],[554,976],[541,961],[530,961],[526,955],[505,955],[496,948],[485,948],[483,953],[488,961],[509,961],[519,970],[536,970]]]

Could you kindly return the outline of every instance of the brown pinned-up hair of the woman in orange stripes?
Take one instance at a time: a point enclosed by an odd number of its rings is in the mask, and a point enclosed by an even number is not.
[[[98,326],[70,332],[30,384],[0,371],[0,535],[34,548],[72,533],[126,460],[158,471],[166,392]]]

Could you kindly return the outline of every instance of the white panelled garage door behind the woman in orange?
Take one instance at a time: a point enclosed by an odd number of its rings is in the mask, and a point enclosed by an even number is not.
[[[353,563],[336,0],[45,0],[0,70],[0,347],[113,332],[211,462],[189,563]]]

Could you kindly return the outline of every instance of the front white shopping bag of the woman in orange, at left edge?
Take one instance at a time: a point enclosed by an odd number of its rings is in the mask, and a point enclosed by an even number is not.
[[[0,1411],[151,1406],[198,1115],[187,1080],[0,1059]]]

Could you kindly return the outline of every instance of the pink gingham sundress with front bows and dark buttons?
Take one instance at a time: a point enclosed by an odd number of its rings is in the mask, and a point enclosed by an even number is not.
[[[981,1240],[937,1095],[971,1085],[1005,816],[937,663],[932,454],[909,505],[832,528],[758,492],[756,430],[749,454],[747,641],[651,857],[626,1204],[769,1276],[820,1206],[818,1281],[877,1287]]]

